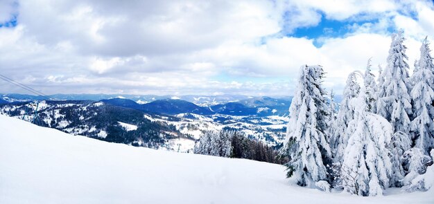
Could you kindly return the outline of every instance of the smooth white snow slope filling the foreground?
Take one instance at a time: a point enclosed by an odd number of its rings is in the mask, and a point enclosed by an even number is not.
[[[434,203],[434,189],[320,192],[280,165],[102,142],[5,115],[0,130],[0,203]]]

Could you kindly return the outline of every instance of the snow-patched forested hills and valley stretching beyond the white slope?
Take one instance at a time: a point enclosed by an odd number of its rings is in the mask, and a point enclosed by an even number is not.
[[[260,100],[270,99],[254,99],[253,106],[265,103]],[[213,111],[209,107],[173,99],[148,104],[137,104],[125,98],[99,102],[42,100],[0,104],[0,114],[73,135],[172,151],[177,151],[177,145],[182,145],[183,152],[191,151],[194,140],[202,133],[220,129],[243,131],[251,139],[279,145],[286,133],[287,115],[267,115],[270,113],[268,107],[246,105],[229,102],[214,106],[216,111]]]

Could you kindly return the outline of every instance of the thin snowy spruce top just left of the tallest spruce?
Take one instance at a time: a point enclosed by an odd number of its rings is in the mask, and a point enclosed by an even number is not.
[[[365,75],[363,75],[367,97],[367,111],[376,113],[376,83],[375,76],[371,73],[371,59],[367,61]]]

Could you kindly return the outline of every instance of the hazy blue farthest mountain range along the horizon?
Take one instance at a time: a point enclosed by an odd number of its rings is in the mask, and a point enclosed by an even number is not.
[[[292,97],[271,98],[250,97],[244,95],[105,95],[105,94],[55,94],[49,98],[56,100],[95,100],[115,106],[135,109],[139,111],[176,115],[180,113],[196,113],[199,115],[288,115]],[[340,96],[335,101],[340,102]],[[0,97],[0,104],[8,102],[27,102],[32,100],[46,100],[42,96],[4,94]]]

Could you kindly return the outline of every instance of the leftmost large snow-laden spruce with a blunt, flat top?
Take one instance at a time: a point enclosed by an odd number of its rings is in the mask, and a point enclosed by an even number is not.
[[[330,163],[327,142],[328,107],[321,87],[322,66],[302,66],[297,89],[290,104],[286,135],[287,176],[301,186],[315,186],[327,180],[326,165]]]

